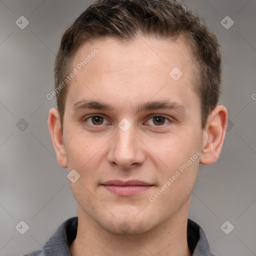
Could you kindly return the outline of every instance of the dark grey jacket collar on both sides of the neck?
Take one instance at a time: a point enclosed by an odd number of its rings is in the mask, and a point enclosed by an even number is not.
[[[46,241],[42,250],[24,254],[23,256],[71,256],[69,246],[77,231],[78,217],[64,221]],[[215,256],[209,248],[209,243],[202,228],[193,220],[187,220],[187,243],[192,256]]]

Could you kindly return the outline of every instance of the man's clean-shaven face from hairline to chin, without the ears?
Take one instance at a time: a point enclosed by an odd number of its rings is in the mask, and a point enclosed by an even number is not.
[[[85,43],[72,59],[63,142],[80,177],[71,190],[109,232],[146,232],[188,209],[202,143],[190,57],[181,40],[140,37]]]

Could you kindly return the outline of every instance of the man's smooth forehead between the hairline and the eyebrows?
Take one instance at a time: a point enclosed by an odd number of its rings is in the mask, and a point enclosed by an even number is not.
[[[82,98],[106,99],[119,105],[125,100],[132,105],[141,103],[141,99],[171,97],[180,102],[182,95],[195,96],[189,86],[190,58],[189,46],[179,39],[174,42],[138,37],[120,43],[108,38],[84,43],[69,66],[77,74],[69,82],[67,100],[74,104]]]

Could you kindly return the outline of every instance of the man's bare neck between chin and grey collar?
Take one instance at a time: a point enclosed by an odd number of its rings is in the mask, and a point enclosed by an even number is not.
[[[77,234],[69,250],[72,256],[190,256],[187,217],[188,207],[184,207],[171,219],[147,232],[112,234],[101,228],[78,205]]]

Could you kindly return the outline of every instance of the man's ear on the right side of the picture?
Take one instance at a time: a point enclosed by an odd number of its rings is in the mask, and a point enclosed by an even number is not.
[[[207,118],[203,129],[201,164],[215,162],[220,154],[227,127],[227,110],[224,106],[216,106]]]

